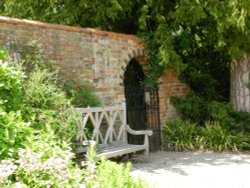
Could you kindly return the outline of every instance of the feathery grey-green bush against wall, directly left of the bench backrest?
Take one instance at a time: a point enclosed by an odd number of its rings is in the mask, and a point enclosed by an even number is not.
[[[66,142],[75,139],[76,115],[66,93],[58,85],[57,73],[35,69],[23,87],[22,110],[32,127],[47,132],[50,126],[58,139]]]

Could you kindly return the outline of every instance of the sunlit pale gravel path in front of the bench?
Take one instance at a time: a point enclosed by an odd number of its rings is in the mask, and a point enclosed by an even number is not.
[[[132,159],[131,175],[155,188],[250,188],[250,155],[156,152]]]

